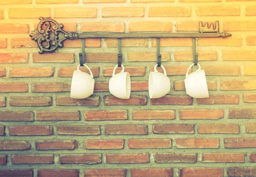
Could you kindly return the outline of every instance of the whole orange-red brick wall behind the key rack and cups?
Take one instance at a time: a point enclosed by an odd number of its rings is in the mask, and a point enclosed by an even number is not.
[[[40,16],[79,32],[198,31],[219,20],[233,36],[197,40],[204,99],[183,82],[192,39],[160,40],[171,91],[158,99],[148,96],[156,40],[123,39],[129,100],[108,91],[117,40],[87,39],[95,90],[76,100],[81,40],[38,54],[29,33]],[[254,0],[0,0],[0,177],[256,177],[255,31]]]

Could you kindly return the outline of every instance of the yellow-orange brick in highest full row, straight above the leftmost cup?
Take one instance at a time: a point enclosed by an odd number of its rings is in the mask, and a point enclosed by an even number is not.
[[[96,8],[56,8],[55,18],[96,18]]]

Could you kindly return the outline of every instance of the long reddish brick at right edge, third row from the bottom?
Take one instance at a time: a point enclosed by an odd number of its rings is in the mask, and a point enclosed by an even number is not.
[[[256,148],[256,138],[224,138],[225,148]]]

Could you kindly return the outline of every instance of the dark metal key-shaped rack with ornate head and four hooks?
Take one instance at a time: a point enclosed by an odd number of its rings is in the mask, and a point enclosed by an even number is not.
[[[198,37],[230,37],[232,34],[227,32],[219,32],[219,22],[211,23],[208,27],[208,23],[199,22],[199,32],[179,32],[179,33],[77,33],[77,32],[66,32],[63,30],[63,24],[58,24],[55,20],[40,17],[40,23],[38,23],[37,29],[32,31],[29,36],[32,40],[35,40],[40,49],[39,54],[51,53],[58,48],[63,48],[63,42],[65,40],[81,39],[82,43],[82,53],[79,53],[80,65],[84,64],[84,39],[86,38],[117,38],[118,39],[118,66],[121,66],[121,38],[156,38],[157,39],[157,64],[161,65],[161,55],[160,55],[160,38],[192,38],[192,54],[193,63],[195,66],[198,63],[198,54],[195,52],[196,38]],[[43,27],[46,29],[43,29]],[[54,31],[52,33],[52,30]]]

